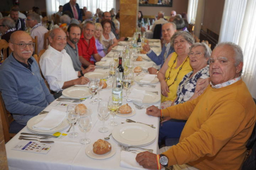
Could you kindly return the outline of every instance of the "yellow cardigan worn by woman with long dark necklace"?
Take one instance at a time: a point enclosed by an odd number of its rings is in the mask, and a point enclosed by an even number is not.
[[[168,78],[168,76],[170,78],[166,82],[167,85],[169,86],[173,82],[174,82],[174,84],[169,87],[170,92],[168,93],[168,97],[165,97],[165,96],[161,95],[161,102],[164,102],[166,100],[173,101],[174,99],[176,99],[176,97],[177,97],[177,87],[179,86],[179,83],[181,83],[182,79],[184,78],[185,75],[187,75],[187,73],[189,73],[190,71],[193,70],[192,67],[190,66],[190,63],[189,63],[189,57],[187,57],[187,59],[184,60],[184,62],[179,67],[176,68],[177,61],[175,63],[173,63],[174,60],[176,59],[176,57],[177,57],[177,53],[173,52],[173,54],[171,56],[171,59],[169,60],[169,63],[168,63],[168,69],[165,72],[165,78]],[[179,68],[181,68],[181,66],[182,66],[182,69],[181,69],[181,71],[179,71]],[[169,75],[170,70],[171,70],[171,74]],[[177,76],[176,81],[174,81],[174,79],[176,78],[177,72],[179,72],[179,75]]]

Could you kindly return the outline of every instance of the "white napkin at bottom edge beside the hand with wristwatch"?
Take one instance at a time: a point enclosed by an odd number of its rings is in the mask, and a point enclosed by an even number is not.
[[[143,169],[142,166],[140,166],[139,163],[135,160],[137,154],[132,153],[132,152],[127,152],[122,150],[121,151],[121,163],[120,166],[124,168],[129,168],[129,169]]]

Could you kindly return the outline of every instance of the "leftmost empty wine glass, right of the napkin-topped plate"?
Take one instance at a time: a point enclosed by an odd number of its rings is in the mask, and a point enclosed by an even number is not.
[[[69,123],[73,127],[73,131],[71,133],[69,133],[69,135],[68,135],[71,138],[75,138],[75,137],[79,136],[79,134],[77,132],[75,132],[75,123],[79,119],[79,113],[77,113],[75,111],[76,106],[77,105],[69,105],[67,107],[67,120],[69,121]]]

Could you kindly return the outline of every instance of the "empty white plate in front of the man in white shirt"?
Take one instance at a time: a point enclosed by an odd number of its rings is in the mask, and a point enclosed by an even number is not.
[[[82,99],[89,97],[91,94],[88,87],[69,87],[62,91],[62,95],[72,99]]]

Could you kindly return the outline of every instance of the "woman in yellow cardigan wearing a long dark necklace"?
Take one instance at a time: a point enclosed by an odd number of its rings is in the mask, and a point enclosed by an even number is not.
[[[178,31],[171,38],[171,46],[175,52],[165,60],[163,67],[158,72],[161,83],[161,108],[171,106],[176,99],[177,87],[187,73],[192,71],[189,64],[189,48],[194,44],[193,36],[186,31]]]

